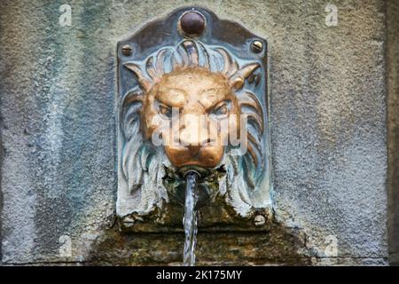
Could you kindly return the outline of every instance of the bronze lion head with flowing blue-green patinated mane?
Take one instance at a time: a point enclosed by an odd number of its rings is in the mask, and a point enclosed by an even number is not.
[[[119,216],[162,209],[182,169],[212,176],[213,194],[241,217],[270,206],[260,60],[184,38],[122,68],[137,84],[119,105]]]

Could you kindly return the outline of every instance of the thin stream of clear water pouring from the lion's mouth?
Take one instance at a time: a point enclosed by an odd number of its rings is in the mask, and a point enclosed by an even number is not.
[[[195,264],[195,245],[197,243],[197,210],[195,205],[198,201],[197,174],[188,172],[186,175],[185,204],[184,204],[184,266]]]

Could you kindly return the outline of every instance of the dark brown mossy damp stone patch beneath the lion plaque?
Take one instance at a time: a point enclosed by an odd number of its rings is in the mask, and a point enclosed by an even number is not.
[[[198,265],[307,265],[304,236],[274,224],[267,233],[199,233]],[[183,233],[129,234],[114,229],[98,238],[88,256],[90,264],[181,265]]]

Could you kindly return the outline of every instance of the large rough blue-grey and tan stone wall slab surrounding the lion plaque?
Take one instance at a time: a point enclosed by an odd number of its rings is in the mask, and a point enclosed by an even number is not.
[[[278,221],[303,240],[291,247],[312,264],[387,264],[383,1],[335,1],[337,27],[325,25],[322,0],[75,0],[72,27],[59,26],[60,4],[0,4],[3,264],[97,262],[93,250],[109,235],[116,191],[116,43],[189,4],[269,41],[273,200]],[[70,257],[59,255],[62,235],[71,238]],[[154,251],[153,235],[130,246],[131,238],[118,235],[102,264],[178,259],[169,242]],[[219,262],[231,246],[252,243],[231,238],[221,241]],[[337,257],[325,254],[331,240]],[[199,249],[200,263],[217,262]],[[268,250],[247,249],[226,253],[223,263],[273,263]],[[157,259],[165,251],[170,257]]]

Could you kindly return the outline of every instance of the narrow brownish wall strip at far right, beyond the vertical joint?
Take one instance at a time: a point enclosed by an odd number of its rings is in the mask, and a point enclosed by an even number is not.
[[[387,1],[389,261],[399,265],[399,2]]]

